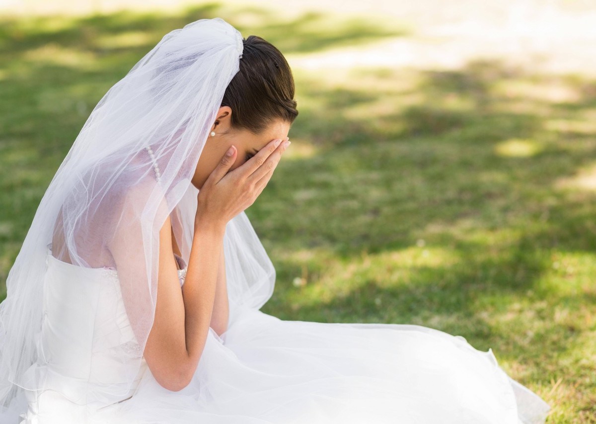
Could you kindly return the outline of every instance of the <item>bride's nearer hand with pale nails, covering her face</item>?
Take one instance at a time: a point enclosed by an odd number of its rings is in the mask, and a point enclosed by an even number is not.
[[[225,225],[254,203],[263,191],[285,151],[288,138],[272,140],[233,171],[237,150],[231,146],[199,190],[195,227],[198,224]],[[277,144],[277,146],[276,146]],[[231,156],[227,156],[230,153]],[[227,174],[226,174],[227,172]]]

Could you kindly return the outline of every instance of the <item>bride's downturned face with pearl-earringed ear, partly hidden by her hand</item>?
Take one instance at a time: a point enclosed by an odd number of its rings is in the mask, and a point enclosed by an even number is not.
[[[232,131],[231,123],[232,109],[228,106],[219,108],[218,117],[210,131],[215,131],[215,136],[207,137],[201,156],[198,159],[192,183],[200,189],[209,177],[211,172],[218,166],[219,161],[224,157],[225,152],[232,144],[236,147],[236,159],[229,171],[232,171],[244,162],[249,160],[261,148],[270,141],[280,138],[285,140],[290,131],[290,123],[278,120],[269,125],[262,134],[255,135],[247,130]],[[229,172],[228,171],[228,172]]]

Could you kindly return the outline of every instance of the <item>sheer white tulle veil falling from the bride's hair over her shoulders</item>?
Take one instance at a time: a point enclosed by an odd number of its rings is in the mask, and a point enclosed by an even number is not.
[[[243,38],[230,24],[197,20],[167,33],[95,106],[8,274],[0,304],[0,413],[24,389],[43,388],[43,379],[29,379],[27,370],[44,361],[36,342],[48,252],[79,267],[115,268],[136,336],[122,358],[136,367],[122,385],[83,384],[73,401],[84,400],[85,391],[129,390],[153,325],[159,230],[169,215],[188,263],[198,194],[191,178],[242,52]],[[128,252],[121,263],[110,255],[116,243]],[[224,254],[232,325],[241,309],[269,299],[275,270],[244,212],[226,226]]]

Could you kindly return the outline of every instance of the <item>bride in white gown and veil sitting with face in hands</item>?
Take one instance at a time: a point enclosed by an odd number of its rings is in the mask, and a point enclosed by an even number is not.
[[[244,209],[297,116],[290,67],[221,18],[97,104],[0,304],[0,422],[544,423],[491,349],[405,324],[287,321]]]

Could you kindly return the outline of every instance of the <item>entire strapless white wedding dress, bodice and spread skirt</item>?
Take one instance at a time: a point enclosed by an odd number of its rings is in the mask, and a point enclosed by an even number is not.
[[[535,424],[550,409],[461,336],[249,309],[222,337],[209,329],[186,388],[162,388],[143,363],[114,397],[131,372],[119,352],[134,338],[116,271],[62,262],[51,245],[46,263],[40,360],[27,371],[46,389],[26,392],[15,424]]]

